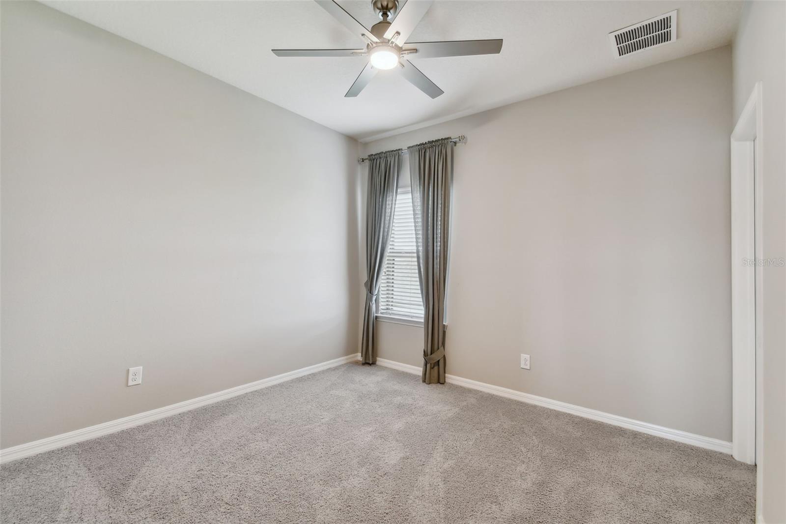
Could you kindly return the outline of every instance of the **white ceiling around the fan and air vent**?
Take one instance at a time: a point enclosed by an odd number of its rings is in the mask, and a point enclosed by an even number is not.
[[[445,91],[432,100],[395,72],[343,98],[365,57],[275,57],[273,48],[363,46],[309,0],[43,3],[362,141],[723,46],[741,9],[740,2],[435,2],[411,42],[505,43],[499,55],[413,58]],[[340,3],[366,27],[378,21],[370,0]],[[677,42],[615,58],[610,31],[671,9],[679,9]]]

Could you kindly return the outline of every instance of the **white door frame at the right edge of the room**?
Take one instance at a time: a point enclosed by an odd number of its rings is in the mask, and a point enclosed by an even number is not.
[[[762,268],[758,265],[763,258],[762,138],[762,83],[758,82],[731,135],[732,454],[749,464],[761,464],[763,451]]]

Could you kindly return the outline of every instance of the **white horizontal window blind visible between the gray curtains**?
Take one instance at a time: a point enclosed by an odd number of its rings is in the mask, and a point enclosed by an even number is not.
[[[379,294],[379,314],[403,319],[423,319],[421,284],[417,280],[415,225],[410,188],[396,197],[393,231],[387,247]]]

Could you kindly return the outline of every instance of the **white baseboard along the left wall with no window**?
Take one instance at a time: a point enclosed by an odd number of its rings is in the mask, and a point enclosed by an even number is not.
[[[64,446],[72,445],[77,442],[90,440],[91,438],[101,437],[116,431],[127,430],[130,427],[139,426],[141,424],[152,422],[153,420],[163,419],[171,415],[177,415],[183,411],[189,411],[194,408],[199,408],[207,404],[213,404],[221,400],[237,397],[243,393],[249,393],[256,389],[263,389],[274,384],[287,382],[293,378],[302,377],[303,375],[310,375],[317,371],[322,371],[330,367],[340,366],[343,363],[354,362],[358,360],[360,355],[354,353],[352,355],[342,356],[337,359],[328,360],[314,364],[313,366],[303,367],[295,371],[288,371],[270,378],[263,378],[256,382],[244,384],[243,386],[236,386],[230,389],[224,389],[217,393],[210,393],[204,397],[193,398],[191,400],[184,400],[178,404],[171,404],[163,408],[152,409],[138,413],[137,415],[130,415],[123,417],[123,419],[110,420],[106,423],[97,424],[81,430],[69,431],[68,433],[55,435],[53,437],[42,438],[39,441],[28,442],[27,444],[20,444],[13,446],[13,448],[0,449],[0,463],[10,462],[11,460],[22,459],[26,456],[37,455],[38,453],[50,451],[51,449],[62,448]]]

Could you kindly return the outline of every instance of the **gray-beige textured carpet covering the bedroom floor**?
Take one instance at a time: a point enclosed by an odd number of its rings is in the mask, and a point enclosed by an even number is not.
[[[11,522],[752,522],[730,456],[347,364],[0,467]]]

